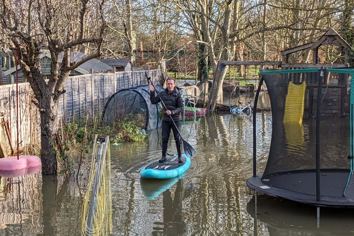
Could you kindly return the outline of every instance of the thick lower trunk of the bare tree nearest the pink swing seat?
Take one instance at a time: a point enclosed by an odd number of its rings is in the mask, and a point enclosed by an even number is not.
[[[56,141],[58,103],[49,95],[44,97],[49,100],[43,99],[40,103],[42,174],[57,174],[57,158],[52,151]]]

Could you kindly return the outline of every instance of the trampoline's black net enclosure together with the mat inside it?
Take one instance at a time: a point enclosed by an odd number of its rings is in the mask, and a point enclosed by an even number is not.
[[[269,157],[261,181],[278,188],[315,194],[315,117],[320,116],[321,195],[342,196],[353,169],[348,155],[353,156],[350,153],[353,117],[349,116],[349,88],[354,70],[325,69],[323,76],[320,69],[263,70],[261,74],[273,117]],[[319,79],[322,79],[322,87],[318,98]],[[318,99],[319,114],[316,111]],[[326,184],[331,187],[322,188]]]

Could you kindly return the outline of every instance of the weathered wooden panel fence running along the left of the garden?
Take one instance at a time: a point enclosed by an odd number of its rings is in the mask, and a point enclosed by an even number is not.
[[[97,114],[102,110],[110,96],[121,89],[127,89],[147,84],[145,71],[121,71],[115,74],[91,74],[70,76],[65,82],[64,93],[58,103],[57,125],[70,122],[75,117]],[[159,84],[161,72],[159,69],[149,71],[154,84]],[[93,84],[92,84],[93,82]],[[92,90],[93,88],[93,90]],[[19,145],[40,144],[40,114],[38,108],[31,102],[34,99],[32,88],[28,83],[18,84],[19,103]],[[93,98],[93,100],[92,100]],[[93,104],[93,109],[92,109]],[[16,150],[16,84],[0,86],[0,112],[8,120],[13,147]],[[7,145],[10,148],[10,145]]]

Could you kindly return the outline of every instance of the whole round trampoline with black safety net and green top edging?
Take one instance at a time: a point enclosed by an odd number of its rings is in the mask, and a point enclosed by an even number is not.
[[[260,73],[254,107],[265,82],[272,140],[264,173],[257,174],[255,111],[253,176],[247,186],[315,206],[354,207],[354,68]]]

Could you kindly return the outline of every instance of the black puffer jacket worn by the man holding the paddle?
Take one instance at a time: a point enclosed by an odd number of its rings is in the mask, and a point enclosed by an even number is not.
[[[172,93],[169,93],[167,88],[160,92],[160,97],[165,103],[167,110],[171,111],[171,116],[174,121],[181,120],[181,112],[183,111],[183,100],[182,100],[182,90],[175,87]],[[152,104],[157,104],[160,102],[160,98],[155,96],[155,92],[150,91],[150,101]],[[169,121],[170,116],[166,114],[166,110],[162,105],[162,120]]]

